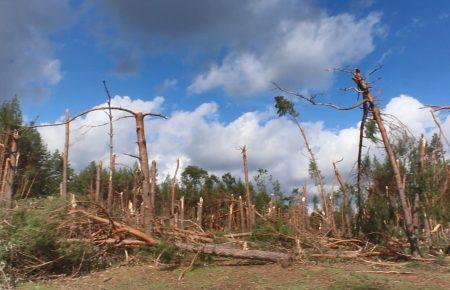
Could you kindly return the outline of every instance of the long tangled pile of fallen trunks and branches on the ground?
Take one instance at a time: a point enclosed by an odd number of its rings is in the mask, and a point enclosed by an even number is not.
[[[105,210],[93,212],[74,208],[70,214],[74,220],[89,224],[83,229],[93,229],[78,231],[80,235],[70,241],[117,248],[169,245],[183,252],[275,262],[282,266],[289,266],[299,259],[431,260],[404,253],[406,241],[392,239],[386,245],[378,245],[364,239],[334,238],[309,231],[283,232],[277,227],[278,221],[271,219],[261,220],[260,224],[264,226],[258,227],[257,223],[252,232],[223,234],[205,231],[194,222],[181,229],[161,219],[156,219],[152,229],[145,231],[130,219],[114,220]]]

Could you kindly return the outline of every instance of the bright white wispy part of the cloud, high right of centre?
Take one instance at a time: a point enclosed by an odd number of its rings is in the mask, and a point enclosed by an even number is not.
[[[272,81],[324,88],[331,77],[327,68],[357,63],[374,50],[379,21],[379,14],[282,21],[261,51],[232,51],[220,66],[197,76],[189,90],[251,95],[269,89]]]

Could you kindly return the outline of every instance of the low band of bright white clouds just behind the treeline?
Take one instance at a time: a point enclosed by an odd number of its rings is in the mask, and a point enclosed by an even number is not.
[[[152,101],[119,96],[113,99],[116,106],[143,112],[161,111],[163,102],[162,97]],[[420,130],[425,130],[429,135],[435,128],[430,127],[428,111],[420,107],[416,99],[401,95],[393,98],[384,111],[395,110],[404,123],[412,124],[412,131],[419,134]],[[403,108],[408,108],[408,113]],[[217,104],[204,103],[192,111],[173,112],[169,120],[145,121],[149,158],[157,160],[158,170],[162,173],[160,179],[173,174],[178,157],[182,168],[193,164],[218,175],[231,172],[242,176],[239,147],[247,145],[252,174],[258,168],[268,169],[289,190],[309,180],[309,161],[303,140],[291,121],[278,118],[270,111],[256,111],[244,113],[229,123],[221,123],[218,110]],[[119,116],[115,115],[116,118]],[[76,169],[81,169],[91,160],[108,160],[108,127],[86,127],[105,122],[105,113],[93,112],[72,125],[70,162]],[[356,162],[358,125],[341,130],[325,128],[321,122],[305,122],[304,126],[328,184],[336,184],[333,182],[332,161],[341,158],[340,170],[351,180]],[[450,133],[450,118],[445,120],[443,127]],[[62,127],[48,127],[39,131],[49,149],[61,150],[63,130]],[[135,160],[121,153],[137,155],[134,120],[127,118],[115,122],[114,130],[118,162],[131,165]]]

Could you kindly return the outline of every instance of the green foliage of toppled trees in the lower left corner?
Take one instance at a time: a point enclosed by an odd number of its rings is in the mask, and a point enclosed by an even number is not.
[[[0,209],[0,264],[12,280],[42,273],[82,273],[109,263],[89,243],[67,242],[71,216],[59,198],[29,199]],[[43,264],[40,267],[36,265]]]

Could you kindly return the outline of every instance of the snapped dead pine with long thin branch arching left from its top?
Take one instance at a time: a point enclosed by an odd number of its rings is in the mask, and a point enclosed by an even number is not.
[[[157,113],[142,113],[142,112],[134,112],[132,110],[122,108],[122,107],[114,107],[114,106],[108,106],[108,107],[96,107],[87,111],[84,111],[82,113],[79,113],[71,118],[67,118],[66,121],[60,122],[60,123],[53,123],[53,124],[43,124],[43,125],[32,125],[27,126],[28,128],[44,128],[44,127],[53,127],[53,126],[61,126],[65,125],[66,128],[68,127],[68,124],[73,122],[74,120],[87,115],[91,112],[95,111],[105,111],[105,110],[116,110],[125,112],[125,117],[133,117],[136,122],[136,135],[137,135],[137,145],[139,149],[139,165],[142,172],[142,199],[144,200],[144,209],[143,209],[143,223],[146,229],[149,229],[151,225],[151,221],[154,218],[155,212],[154,212],[154,206],[151,205],[151,199],[150,199],[150,167],[148,164],[148,151],[147,151],[147,142],[145,138],[145,126],[144,126],[144,118],[147,116],[151,117],[158,117],[167,119],[166,116],[162,114]],[[121,117],[121,119],[124,117]],[[66,137],[67,139],[67,137]],[[65,164],[65,170],[67,170],[67,164]],[[64,170],[64,168],[63,168]]]

